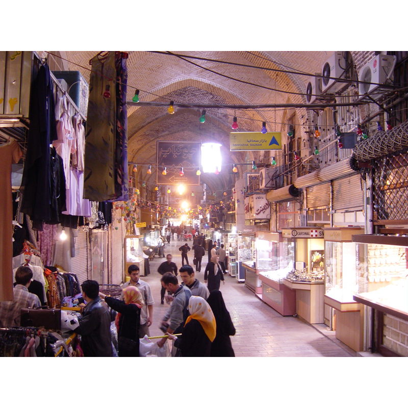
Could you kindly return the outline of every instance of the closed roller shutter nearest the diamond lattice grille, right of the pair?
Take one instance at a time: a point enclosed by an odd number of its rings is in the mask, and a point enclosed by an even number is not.
[[[333,210],[363,208],[364,194],[360,174],[333,180]]]

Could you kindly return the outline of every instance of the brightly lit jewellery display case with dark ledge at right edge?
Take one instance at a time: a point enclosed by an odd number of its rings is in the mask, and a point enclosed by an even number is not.
[[[369,307],[371,350],[386,356],[408,356],[408,344],[404,341],[408,338],[408,235],[405,234],[352,238],[357,245],[358,284],[353,299]]]

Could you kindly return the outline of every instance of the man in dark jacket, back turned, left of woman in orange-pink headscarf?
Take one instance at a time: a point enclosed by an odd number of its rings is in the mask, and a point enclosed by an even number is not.
[[[88,280],[81,288],[87,305],[74,331],[81,335],[84,357],[112,357],[111,316],[99,297],[99,284]]]

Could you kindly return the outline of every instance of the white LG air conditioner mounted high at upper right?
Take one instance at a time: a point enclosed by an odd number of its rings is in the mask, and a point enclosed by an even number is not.
[[[359,84],[360,98],[381,89],[381,85],[392,82],[396,57],[394,55],[376,55],[368,64],[359,71],[359,81],[372,82],[372,84]],[[380,85],[376,85],[380,84]],[[372,95],[373,98],[381,96]]]

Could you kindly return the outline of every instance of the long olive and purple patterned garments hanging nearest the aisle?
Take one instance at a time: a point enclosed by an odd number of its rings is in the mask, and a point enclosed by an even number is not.
[[[84,179],[84,198],[92,201],[127,197],[126,84],[118,84],[126,82],[126,58],[107,52],[92,59]]]

